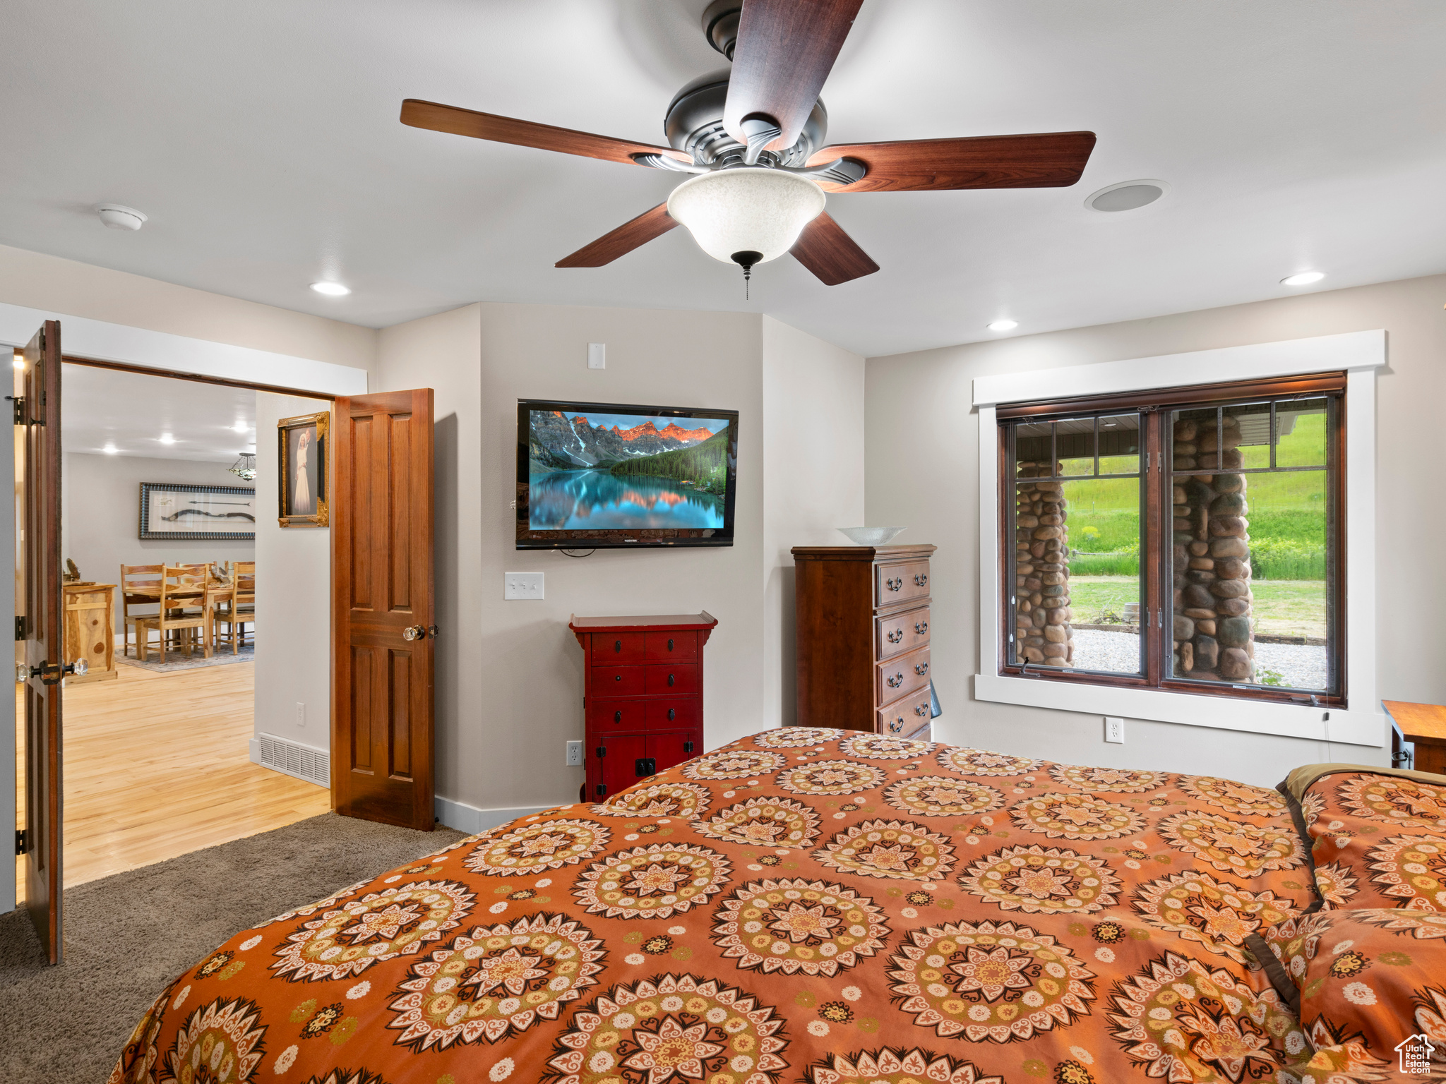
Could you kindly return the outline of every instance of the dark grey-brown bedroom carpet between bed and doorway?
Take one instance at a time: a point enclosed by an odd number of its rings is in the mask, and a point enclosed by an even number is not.
[[[0,915],[0,1081],[104,1084],[156,993],[239,929],[463,838],[322,814],[77,885],[65,963]]]

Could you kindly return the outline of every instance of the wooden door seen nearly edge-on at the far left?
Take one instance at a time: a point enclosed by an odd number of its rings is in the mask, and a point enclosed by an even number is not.
[[[25,906],[52,964],[61,963],[61,325],[25,348],[17,423],[26,426],[19,502],[25,565]]]

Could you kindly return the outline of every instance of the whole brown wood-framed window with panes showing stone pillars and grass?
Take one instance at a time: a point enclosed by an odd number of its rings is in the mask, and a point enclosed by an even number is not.
[[[999,672],[1345,704],[1345,374],[1001,408]]]

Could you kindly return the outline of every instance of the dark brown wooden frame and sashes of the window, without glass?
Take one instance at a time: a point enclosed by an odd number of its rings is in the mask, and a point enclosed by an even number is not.
[[[1319,373],[1288,379],[1267,380],[1231,380],[1216,384],[1197,384],[1178,389],[1155,389],[1151,392],[1124,393],[1113,396],[1096,396],[1089,400],[1053,399],[1044,402],[1019,403],[1001,408],[995,412],[998,428],[998,526],[999,526],[999,593],[996,607],[999,611],[999,676],[1028,676],[1041,681],[1057,681],[1071,685],[1109,685],[1115,688],[1160,689],[1165,692],[1180,692],[1186,695],[1202,695],[1226,700],[1254,700],[1275,704],[1310,704],[1330,708],[1345,708],[1348,705],[1345,637],[1340,635],[1345,626],[1345,562],[1340,555],[1345,552],[1345,438],[1346,438],[1346,396],[1348,374],[1342,371]],[[1293,688],[1271,688],[1261,685],[1239,685],[1226,681],[1202,681],[1173,676],[1168,674],[1167,659],[1173,655],[1173,636],[1167,630],[1174,623],[1174,591],[1165,588],[1170,577],[1170,559],[1174,546],[1173,513],[1165,516],[1165,509],[1173,509],[1174,486],[1174,447],[1170,436],[1170,415],[1176,410],[1192,410],[1200,408],[1219,408],[1251,400],[1290,400],[1290,399],[1326,399],[1326,463],[1322,467],[1284,468],[1299,471],[1320,470],[1326,476],[1326,649],[1327,675],[1335,678],[1335,691],[1312,691]],[[1145,610],[1145,621],[1139,629],[1141,672],[1139,674],[1109,674],[1105,671],[1082,671],[1074,668],[1040,666],[1034,662],[1014,662],[1009,659],[1012,639],[1012,624],[1015,608],[1011,603],[1014,594],[1014,564],[1015,564],[1015,423],[1025,419],[1063,421],[1095,415],[1139,415],[1139,455],[1141,470],[1138,476],[1115,474],[1108,477],[1139,478],[1139,517],[1141,517],[1141,606]],[[1096,441],[1098,441],[1096,426]],[[1274,435],[1274,410],[1272,410]],[[1274,444],[1271,447],[1271,461],[1274,463]],[[1099,447],[1095,448],[1096,468],[1099,463]],[[1268,470],[1275,470],[1274,467]],[[1199,473],[1199,471],[1196,471]],[[1219,473],[1219,471],[1210,471]],[[1231,473],[1262,473],[1261,468],[1231,468]],[[1106,476],[1093,476],[1106,477]],[[1030,669],[1032,668],[1032,669]],[[1327,679],[1327,685],[1330,681]]]

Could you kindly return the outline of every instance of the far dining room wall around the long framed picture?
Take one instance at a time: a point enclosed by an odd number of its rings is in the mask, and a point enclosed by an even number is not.
[[[227,539],[142,539],[140,483],[169,481],[200,486],[244,486],[224,463],[155,460],[140,455],[64,457],[61,554],[75,561],[82,580],[119,584],[121,565],[181,565],[202,561],[253,561],[256,543]],[[145,613],[153,611],[149,607]],[[123,629],[121,598],[116,591],[116,635]]]

